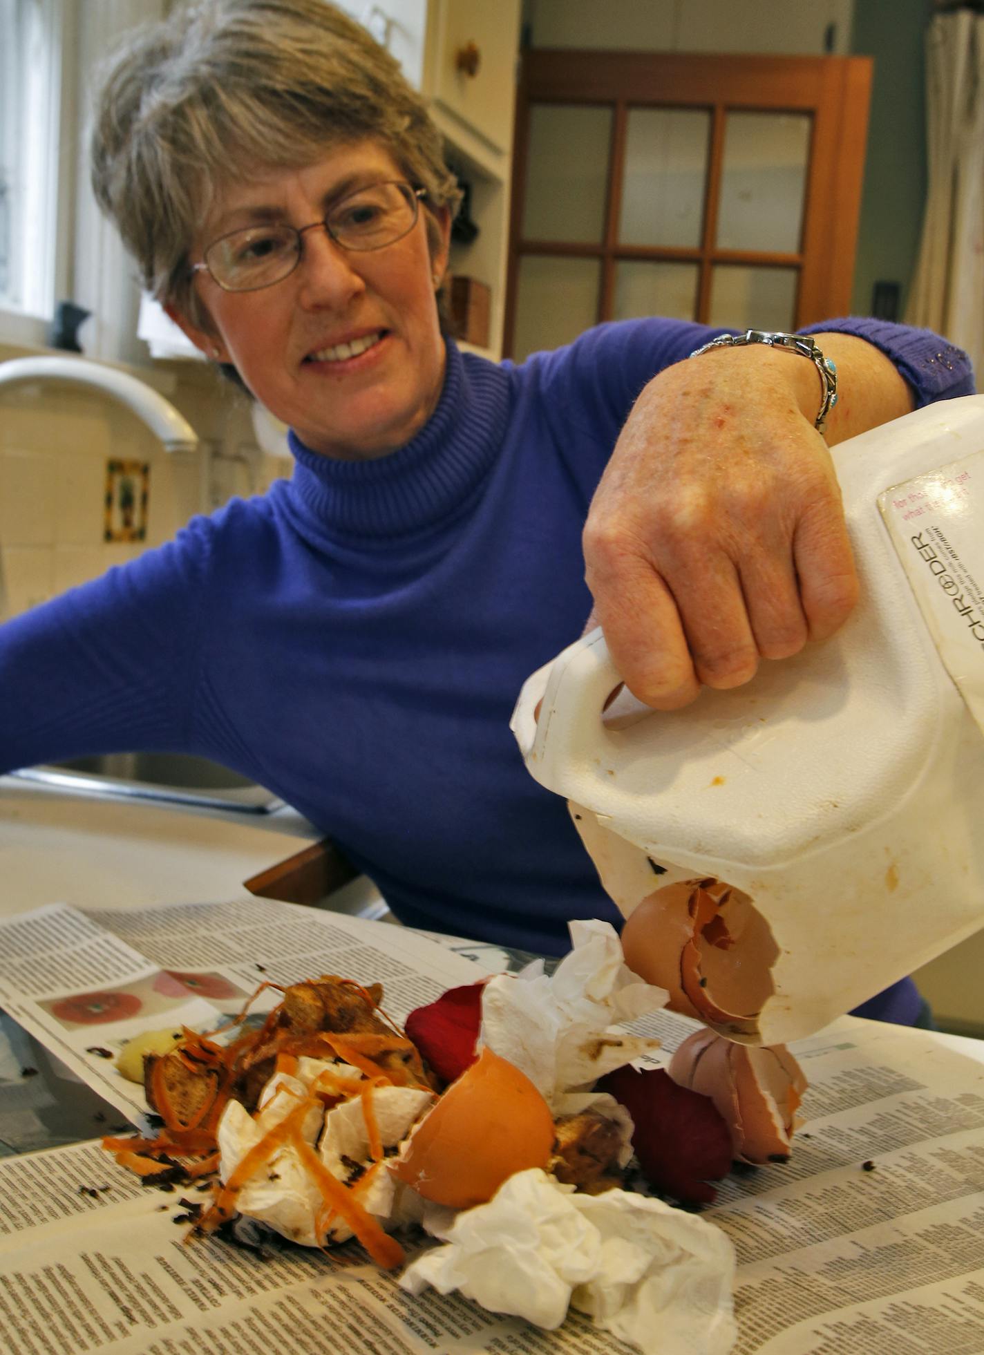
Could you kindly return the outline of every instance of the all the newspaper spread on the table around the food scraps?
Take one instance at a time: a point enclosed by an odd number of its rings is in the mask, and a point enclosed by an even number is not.
[[[241,991],[258,978],[343,973],[381,980],[400,1018],[484,972],[398,927],[253,898],[104,915],[50,905],[0,923],[0,1003],[134,1117],[138,1089],[117,1089],[91,1050],[118,1047],[146,1014],[83,1023],[81,1034],[65,1023],[62,1003],[96,992],[95,976],[104,995],[157,1003],[161,973],[213,974]],[[211,996],[217,982],[207,997],[201,985],[190,999],[164,989],[175,1004],[165,1020],[230,1005]],[[667,1054],[693,1030],[671,1014],[653,1026]],[[851,1018],[796,1053],[811,1089],[792,1161],[733,1173],[703,1215],[737,1251],[735,1355],[980,1355],[984,1064],[926,1033]],[[188,1241],[186,1199],[195,1202],[194,1190],[142,1187],[98,1144],[0,1163],[4,1350],[628,1355],[577,1313],[541,1332],[458,1295],[409,1297],[354,1244],[285,1244],[262,1259],[216,1238]]]

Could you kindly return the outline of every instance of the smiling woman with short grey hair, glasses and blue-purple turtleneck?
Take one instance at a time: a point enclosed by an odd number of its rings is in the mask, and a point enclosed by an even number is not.
[[[290,424],[297,465],[3,627],[0,768],[201,753],[305,813],[407,923],[560,951],[568,919],[614,920],[525,772],[512,703],[591,592],[664,706],[843,621],[815,364],[683,360],[717,331],[656,320],[522,367],[458,352],[436,131],[323,0],[209,0],[136,39],[94,182],[173,318]],[[931,335],[840,321],[819,341],[840,369],[831,439],[970,389]],[[880,1012],[918,1004],[903,988]]]

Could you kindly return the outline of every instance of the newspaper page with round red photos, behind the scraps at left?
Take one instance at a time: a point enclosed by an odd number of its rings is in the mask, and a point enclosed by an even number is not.
[[[403,927],[252,894],[131,912],[46,904],[0,920],[0,1007],[136,1123],[144,1089],[114,1060],[142,1031],[217,1028],[251,997],[252,1012],[275,1007],[272,985],[319,974],[381,982],[386,1011],[403,1022],[489,973]]]

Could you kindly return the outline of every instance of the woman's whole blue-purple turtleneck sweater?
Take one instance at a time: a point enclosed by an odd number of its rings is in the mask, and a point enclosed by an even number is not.
[[[889,352],[919,404],[972,389],[934,335],[825,328]],[[569,919],[617,921],[508,720],[588,615],[581,526],[634,398],[718,332],[602,325],[518,367],[449,344],[405,447],[293,439],[290,481],[0,627],[0,770],[198,753],[297,808],[411,925],[560,953]],[[869,1014],[916,1007],[909,985]]]

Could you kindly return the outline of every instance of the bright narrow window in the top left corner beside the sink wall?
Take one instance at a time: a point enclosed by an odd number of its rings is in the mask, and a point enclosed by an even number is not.
[[[41,320],[50,317],[61,280],[66,19],[64,0],[0,0],[0,308]],[[38,335],[22,331],[19,337]]]

